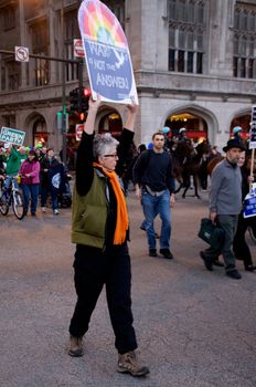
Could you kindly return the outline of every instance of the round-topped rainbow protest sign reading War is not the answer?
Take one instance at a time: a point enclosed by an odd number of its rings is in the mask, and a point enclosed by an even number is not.
[[[78,24],[93,98],[138,104],[127,39],[115,14],[99,0],[84,0]]]

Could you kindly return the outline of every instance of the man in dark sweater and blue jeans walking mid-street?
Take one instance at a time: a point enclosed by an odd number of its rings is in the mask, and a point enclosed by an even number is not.
[[[164,150],[164,135],[161,132],[153,134],[152,145],[152,149],[145,150],[139,156],[134,167],[136,196],[141,200],[143,209],[149,255],[158,257],[153,222],[154,218],[160,215],[160,254],[172,259],[170,205],[173,206],[175,200],[172,160],[169,153]]]

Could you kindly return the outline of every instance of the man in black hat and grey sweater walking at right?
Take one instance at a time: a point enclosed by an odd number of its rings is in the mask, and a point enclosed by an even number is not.
[[[237,163],[245,147],[237,138],[232,138],[223,150],[226,158],[218,163],[212,172],[209,208],[210,219],[224,229],[225,239],[221,250],[210,247],[201,251],[200,255],[205,268],[212,271],[213,262],[222,254],[226,275],[239,280],[242,275],[236,269],[232,244],[242,209],[242,175]]]

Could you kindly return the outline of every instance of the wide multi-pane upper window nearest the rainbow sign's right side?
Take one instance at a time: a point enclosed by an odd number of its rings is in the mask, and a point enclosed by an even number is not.
[[[168,0],[169,71],[203,73],[205,1]]]

